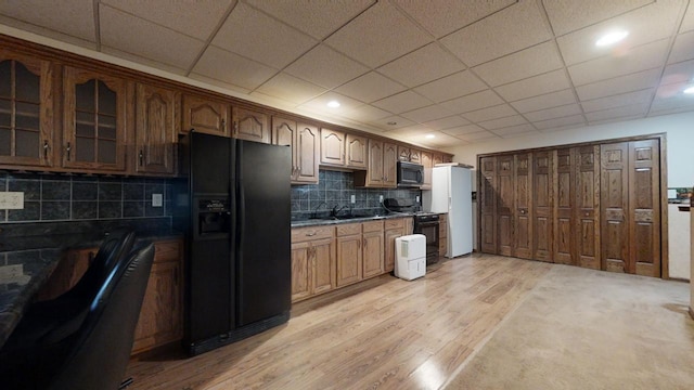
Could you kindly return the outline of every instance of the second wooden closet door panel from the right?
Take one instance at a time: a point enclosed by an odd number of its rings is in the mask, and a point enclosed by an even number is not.
[[[629,143],[600,145],[603,269],[629,272]]]

